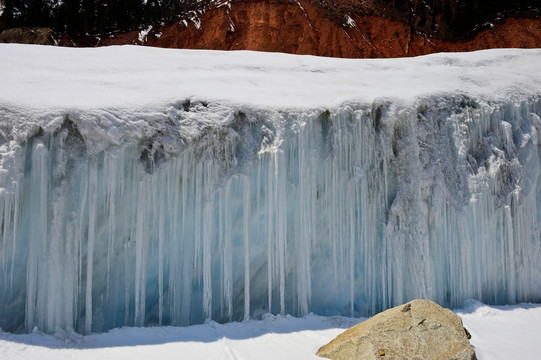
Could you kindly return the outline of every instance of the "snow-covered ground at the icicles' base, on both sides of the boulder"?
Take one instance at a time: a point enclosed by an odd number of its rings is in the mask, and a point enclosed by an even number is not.
[[[474,300],[456,311],[480,360],[536,359],[541,305],[487,306]],[[266,315],[262,320],[188,327],[122,328],[81,336],[0,334],[2,359],[319,359],[317,349],[362,319]]]

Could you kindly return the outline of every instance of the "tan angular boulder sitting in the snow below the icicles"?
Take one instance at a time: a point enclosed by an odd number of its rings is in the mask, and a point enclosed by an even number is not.
[[[458,315],[430,300],[413,300],[338,335],[317,355],[332,360],[475,360]]]

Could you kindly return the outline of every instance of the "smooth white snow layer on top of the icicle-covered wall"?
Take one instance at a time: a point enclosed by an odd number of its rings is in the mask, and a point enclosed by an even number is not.
[[[460,93],[486,100],[537,94],[541,50],[485,50],[346,60],[135,46],[0,44],[0,107],[163,109],[186,99],[274,109]]]

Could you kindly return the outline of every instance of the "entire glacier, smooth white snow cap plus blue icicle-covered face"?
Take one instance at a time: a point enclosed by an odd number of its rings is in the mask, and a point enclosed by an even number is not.
[[[541,301],[540,50],[0,51],[3,330]]]

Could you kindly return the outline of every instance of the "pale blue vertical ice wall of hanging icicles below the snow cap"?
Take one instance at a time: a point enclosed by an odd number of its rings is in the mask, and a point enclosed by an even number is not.
[[[539,97],[115,116],[3,139],[2,329],[541,300]]]

